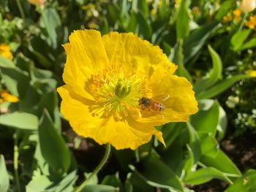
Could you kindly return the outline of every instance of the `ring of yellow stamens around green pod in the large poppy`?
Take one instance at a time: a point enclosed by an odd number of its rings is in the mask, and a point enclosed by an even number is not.
[[[147,96],[146,78],[138,74],[125,74],[123,71],[108,70],[94,74],[85,82],[85,89],[94,96],[90,106],[92,115],[108,118],[113,115],[116,120],[135,114],[138,116],[140,106],[138,98]]]

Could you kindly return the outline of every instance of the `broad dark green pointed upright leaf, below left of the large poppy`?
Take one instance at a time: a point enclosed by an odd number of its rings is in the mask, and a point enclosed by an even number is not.
[[[57,174],[64,174],[69,168],[71,156],[64,139],[56,131],[47,110],[39,123],[39,144],[42,156]]]

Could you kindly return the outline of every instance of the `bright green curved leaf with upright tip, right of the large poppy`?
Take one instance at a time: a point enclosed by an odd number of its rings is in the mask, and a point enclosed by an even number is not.
[[[210,88],[222,77],[222,61],[219,58],[218,53],[216,53],[210,45],[208,45],[208,50],[211,54],[213,68],[205,77],[202,78],[202,80],[199,80],[195,83],[196,94],[206,90],[207,88]]]

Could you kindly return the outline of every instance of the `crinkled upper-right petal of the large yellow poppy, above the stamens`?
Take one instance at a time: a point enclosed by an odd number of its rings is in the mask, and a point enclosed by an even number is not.
[[[150,77],[159,65],[168,68],[166,73],[175,72],[176,66],[162,53],[159,46],[151,45],[132,33],[119,34],[110,32],[102,37],[110,64],[117,67],[121,64],[124,72],[139,72]]]

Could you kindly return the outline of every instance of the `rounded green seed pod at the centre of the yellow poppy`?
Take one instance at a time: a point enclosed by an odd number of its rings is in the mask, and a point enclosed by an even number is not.
[[[130,80],[121,78],[116,83],[115,94],[118,96],[118,99],[123,99],[125,96],[128,96],[132,89],[132,83]]]

